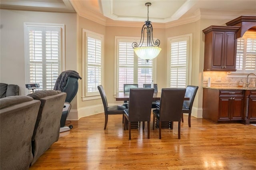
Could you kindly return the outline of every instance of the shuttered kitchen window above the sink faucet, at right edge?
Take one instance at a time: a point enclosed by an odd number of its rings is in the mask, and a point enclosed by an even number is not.
[[[237,39],[236,73],[253,73],[256,71],[256,35],[246,32]]]

